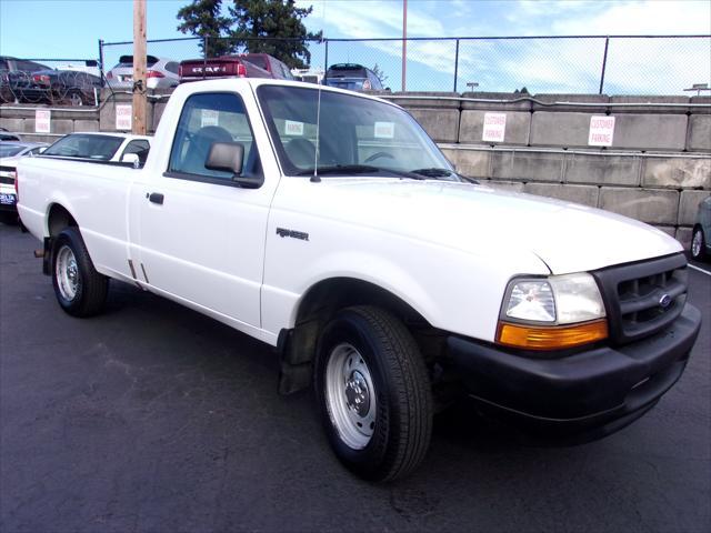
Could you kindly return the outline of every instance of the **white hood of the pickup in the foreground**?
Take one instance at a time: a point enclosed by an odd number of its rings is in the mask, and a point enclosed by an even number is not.
[[[323,194],[309,188],[306,205],[319,198],[336,220],[478,255],[533,253],[554,274],[682,251],[663,231],[619,214],[483,185],[330,177],[314,185]]]

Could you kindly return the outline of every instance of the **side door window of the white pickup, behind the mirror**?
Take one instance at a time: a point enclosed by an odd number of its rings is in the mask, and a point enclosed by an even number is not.
[[[176,130],[168,172],[191,174],[193,179],[203,178],[217,183],[231,182],[230,172],[204,167],[214,142],[242,144],[244,160],[241,175],[261,174],[259,154],[244,103],[233,93],[193,94],[186,101]]]

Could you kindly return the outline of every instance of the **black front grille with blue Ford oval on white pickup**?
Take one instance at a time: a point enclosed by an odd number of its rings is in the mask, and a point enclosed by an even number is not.
[[[667,328],[687,302],[683,254],[592,272],[602,291],[610,340],[627,344]]]

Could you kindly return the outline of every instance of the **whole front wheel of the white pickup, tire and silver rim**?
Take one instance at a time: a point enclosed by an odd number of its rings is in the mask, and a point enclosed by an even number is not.
[[[319,340],[314,378],[326,432],[348,469],[392,481],[422,462],[432,433],[432,393],[402,322],[372,306],[340,311]]]

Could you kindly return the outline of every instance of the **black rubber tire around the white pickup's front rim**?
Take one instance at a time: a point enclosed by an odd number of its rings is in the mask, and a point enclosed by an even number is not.
[[[329,403],[327,390],[329,361],[338,358],[344,345],[354,348],[361,363],[364,361],[374,389],[372,435],[361,449],[349,445],[336,425],[337,416],[331,411],[337,409],[332,408],[332,401]],[[352,402],[347,400],[346,392],[347,384],[353,381],[352,374],[348,381],[344,373],[340,375],[342,401]],[[349,470],[370,481],[392,481],[409,474],[422,462],[432,434],[431,384],[418,345],[393,315],[373,306],[340,311],[319,339],[314,384],[328,439]]]

